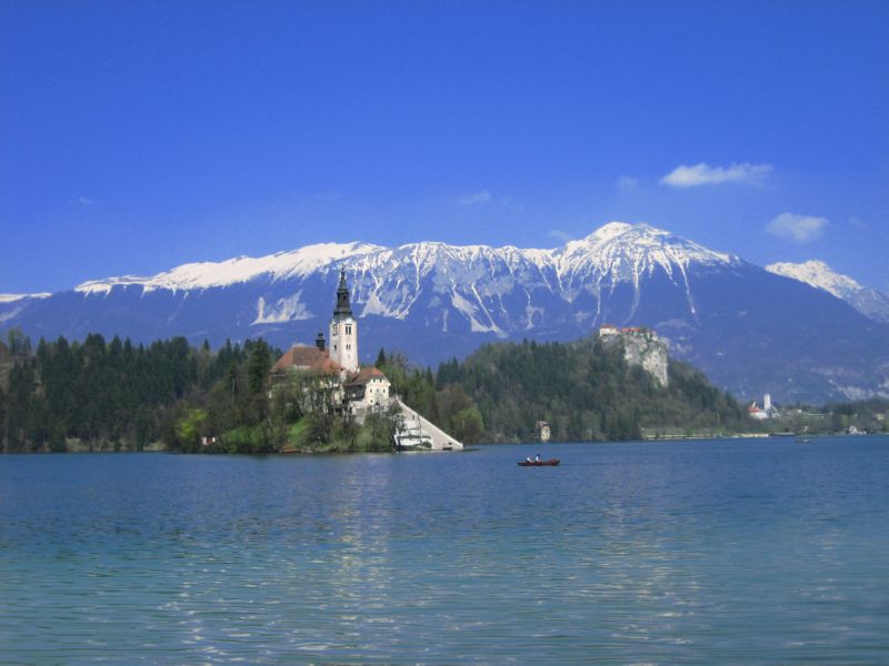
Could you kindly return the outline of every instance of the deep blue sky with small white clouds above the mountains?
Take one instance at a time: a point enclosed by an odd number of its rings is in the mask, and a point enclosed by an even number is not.
[[[0,292],[611,220],[889,292],[889,3],[0,0]]]

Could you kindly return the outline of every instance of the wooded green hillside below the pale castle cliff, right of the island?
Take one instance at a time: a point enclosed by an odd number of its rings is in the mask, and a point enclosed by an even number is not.
[[[691,366],[671,361],[661,386],[621,349],[587,337],[571,343],[496,343],[439,367],[440,387],[459,385],[485,421],[485,441],[533,441],[537,421],[553,440],[640,438],[659,430],[749,430],[743,411]]]

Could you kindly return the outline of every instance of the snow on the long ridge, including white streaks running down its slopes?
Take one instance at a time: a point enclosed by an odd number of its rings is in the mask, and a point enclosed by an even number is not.
[[[290,284],[286,293],[263,293],[256,299],[252,325],[263,325],[312,316],[313,310],[301,296],[304,283],[344,269],[362,315],[403,320],[422,301],[427,310],[452,310],[450,317],[441,314],[436,324],[443,331],[455,325],[456,315],[472,332],[502,337],[508,331],[533,329],[553,307],[559,310],[553,299],[572,303],[586,293],[598,301],[603,287],[613,291],[620,283],[635,290],[632,310],[623,319],[632,316],[640,300],[640,281],[656,270],[681,285],[693,313],[689,268],[739,261],[647,224],[611,222],[586,239],[553,250],[440,242],[393,249],[359,242],[324,243],[262,258],[189,263],[151,278],[89,281],[76,291],[108,296],[114,287],[134,286],[144,295],[157,290],[188,293],[252,281]],[[596,310],[578,316],[592,322],[599,314]]]

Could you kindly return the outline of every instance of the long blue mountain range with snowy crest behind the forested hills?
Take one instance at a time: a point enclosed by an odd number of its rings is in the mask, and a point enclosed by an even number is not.
[[[326,330],[340,270],[360,317],[362,361],[386,347],[433,364],[485,342],[566,341],[603,323],[645,325],[740,397],[889,395],[882,294],[825,264],[767,270],[622,222],[552,250],[354,242],[190,263],[151,278],[0,297],[0,326],[34,337],[184,335],[212,345],[261,335],[286,347]]]

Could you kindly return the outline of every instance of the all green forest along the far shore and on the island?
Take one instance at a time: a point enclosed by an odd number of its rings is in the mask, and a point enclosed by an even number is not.
[[[19,331],[0,342],[0,448],[274,453],[390,451],[391,415],[363,425],[336,415],[323,382],[291,373],[262,340],[218,350],[183,337],[132,344],[98,334],[36,346]],[[762,428],[693,367],[671,360],[661,387],[620,350],[590,336],[571,343],[488,344],[437,371],[380,350],[392,391],[456,438],[527,442],[537,423],[553,441],[638,440],[670,433],[728,435]],[[830,426],[880,423],[886,401],[831,405]]]

